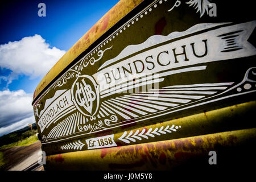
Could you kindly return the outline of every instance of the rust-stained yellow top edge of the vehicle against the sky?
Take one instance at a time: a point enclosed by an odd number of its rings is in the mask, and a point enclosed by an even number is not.
[[[93,42],[102,36],[109,28],[113,27],[127,13],[138,6],[143,0],[121,0],[109,10],[77,43],[74,44],[64,56],[51,68],[36,87],[33,100],[43,91],[44,88],[67,67],[77,56],[84,52]]]

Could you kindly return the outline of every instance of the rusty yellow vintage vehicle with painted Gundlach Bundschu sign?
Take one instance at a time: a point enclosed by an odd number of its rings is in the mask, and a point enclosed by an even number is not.
[[[35,90],[44,168],[253,163],[256,19],[225,3],[121,0],[102,16]]]

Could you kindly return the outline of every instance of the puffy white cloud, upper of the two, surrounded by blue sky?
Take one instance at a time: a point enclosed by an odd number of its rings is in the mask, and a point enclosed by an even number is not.
[[[10,69],[13,75],[31,78],[44,76],[63,56],[65,51],[50,48],[40,35],[0,45],[0,67]]]

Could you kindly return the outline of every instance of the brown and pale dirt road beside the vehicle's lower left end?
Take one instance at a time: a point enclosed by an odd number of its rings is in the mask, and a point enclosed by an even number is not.
[[[3,152],[5,164],[1,167],[1,170],[22,171],[40,159],[40,151],[40,141],[30,144],[29,146],[3,149],[1,152]]]

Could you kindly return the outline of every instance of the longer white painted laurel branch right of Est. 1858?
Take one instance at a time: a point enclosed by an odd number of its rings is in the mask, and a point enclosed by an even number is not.
[[[177,129],[181,128],[181,126],[172,125],[170,127],[169,125],[167,125],[165,129],[163,128],[164,126],[160,127],[160,129],[156,127],[154,131],[152,131],[152,129],[150,128],[147,132],[146,132],[146,129],[143,129],[141,133],[139,133],[139,130],[137,130],[135,131],[134,134],[133,134],[133,131],[130,131],[128,135],[127,135],[127,131],[125,131],[123,135],[118,139],[125,143],[130,143],[130,141],[136,142],[136,139],[142,140],[142,138],[148,139],[148,137],[154,138],[155,135],[160,136],[161,134],[172,133],[172,131],[177,131]]]

